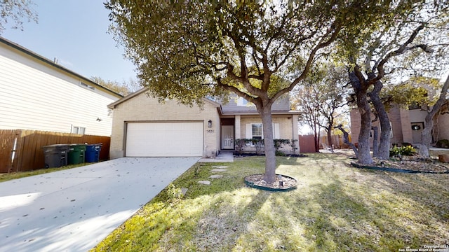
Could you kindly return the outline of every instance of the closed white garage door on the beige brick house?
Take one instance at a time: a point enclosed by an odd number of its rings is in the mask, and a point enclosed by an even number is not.
[[[128,123],[127,157],[201,157],[203,123]]]

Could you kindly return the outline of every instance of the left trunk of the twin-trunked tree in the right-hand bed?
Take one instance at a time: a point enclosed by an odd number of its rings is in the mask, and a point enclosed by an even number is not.
[[[349,72],[349,80],[356,93],[356,103],[361,116],[360,134],[358,135],[358,162],[372,164],[370,155],[371,111],[368,103],[366,83],[361,83],[354,71]]]

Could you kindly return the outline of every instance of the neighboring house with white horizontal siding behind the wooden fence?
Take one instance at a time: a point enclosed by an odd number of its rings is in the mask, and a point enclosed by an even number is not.
[[[110,136],[122,96],[0,37],[0,129]]]

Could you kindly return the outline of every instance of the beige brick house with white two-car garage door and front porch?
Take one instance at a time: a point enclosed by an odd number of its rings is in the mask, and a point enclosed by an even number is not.
[[[159,103],[142,89],[119,99],[108,106],[114,111],[109,156],[213,157],[234,150],[234,139],[262,138],[255,106],[234,98],[227,104],[204,99],[200,108],[172,100]],[[272,114],[274,138],[297,139],[299,113],[290,111],[287,96],[273,105]]]

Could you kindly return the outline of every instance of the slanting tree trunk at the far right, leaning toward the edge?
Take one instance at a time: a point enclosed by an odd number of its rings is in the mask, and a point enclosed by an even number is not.
[[[441,110],[441,106],[443,106],[443,103],[446,99],[446,94],[448,93],[449,89],[449,76],[446,78],[446,81],[441,88],[440,97],[438,97],[438,101],[436,101],[434,107],[431,109],[431,111],[427,114],[425,119],[425,127],[421,132],[421,146],[420,146],[420,155],[423,155],[424,158],[429,158],[429,147],[430,142],[432,140],[432,129],[434,128],[434,116],[436,113],[439,113]]]

